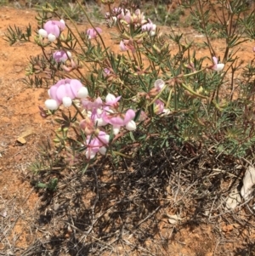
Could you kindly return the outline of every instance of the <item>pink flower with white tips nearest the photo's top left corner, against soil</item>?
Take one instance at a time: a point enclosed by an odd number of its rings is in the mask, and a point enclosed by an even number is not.
[[[65,29],[65,21],[64,20],[48,20],[43,29],[39,29],[38,34],[41,37],[47,37],[48,41],[54,42],[54,40],[59,37],[60,32]]]

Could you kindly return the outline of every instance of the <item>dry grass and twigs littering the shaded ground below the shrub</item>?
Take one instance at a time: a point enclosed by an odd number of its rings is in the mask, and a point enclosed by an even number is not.
[[[40,237],[14,255],[178,255],[183,247],[187,255],[230,255],[230,245],[240,239],[252,244],[252,202],[234,211],[225,207],[229,191],[241,185],[245,161],[209,152],[191,155],[189,148],[172,145],[118,168],[100,159],[84,175],[74,169],[42,172],[33,179],[57,177],[58,190],[37,191],[41,202],[30,229]],[[5,202],[6,208],[13,205]],[[8,212],[2,227],[6,253],[15,252],[19,239],[9,238],[14,229],[9,218],[20,219],[14,208]],[[174,214],[176,223],[170,221]],[[233,255],[246,250],[252,249],[235,247]]]

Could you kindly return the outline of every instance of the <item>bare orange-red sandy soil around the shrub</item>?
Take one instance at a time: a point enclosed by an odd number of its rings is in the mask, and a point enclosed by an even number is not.
[[[36,12],[31,9],[0,8],[0,212],[3,214],[6,210],[7,213],[5,218],[0,216],[0,252],[6,255],[11,247],[29,247],[41,236],[42,230],[34,232],[30,229],[40,198],[30,184],[28,167],[37,154],[37,144],[54,133],[52,123],[42,119],[38,111],[38,105],[43,106],[48,98],[47,89],[27,88],[21,81],[25,77],[28,58],[40,54],[40,48],[34,43],[9,46],[3,40],[8,26],[25,29],[30,23],[35,31],[35,16]],[[79,25],[81,29],[87,27]],[[167,31],[167,28],[162,28],[162,31]],[[200,37],[195,37],[198,33],[194,30],[189,28],[184,32],[190,40],[201,42]],[[110,44],[110,35],[104,37]],[[219,55],[224,48],[223,42],[222,39],[213,41]],[[240,54],[245,62],[253,57],[252,46],[251,42],[241,46]],[[205,54],[199,47],[197,52]],[[26,139],[26,144],[20,144],[17,141],[19,137]],[[161,234],[172,237],[173,228],[169,229],[167,219],[160,228]],[[236,234],[235,225],[223,225],[220,231],[230,238]],[[235,249],[244,246],[244,243],[243,240],[232,243],[231,239],[220,238],[211,225],[187,226],[178,230],[173,241],[164,248],[165,253],[158,255],[245,255],[234,254]],[[153,242],[150,242],[151,246]],[[224,254],[218,253],[219,247]]]

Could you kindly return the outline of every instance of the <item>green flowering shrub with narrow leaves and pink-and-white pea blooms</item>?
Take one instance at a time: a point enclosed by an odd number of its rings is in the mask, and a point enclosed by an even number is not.
[[[216,151],[234,156],[246,156],[251,150],[255,129],[247,118],[252,113],[252,88],[238,85],[241,94],[233,99],[239,64],[230,54],[245,40],[226,20],[219,20],[223,27],[218,32],[226,33],[226,43],[224,53],[217,53],[210,38],[215,27],[208,27],[205,7],[186,3],[194,19],[201,20],[208,57],[191,54],[193,44],[182,34],[164,34],[129,3],[113,8],[106,3],[105,27],[95,27],[78,3],[89,22],[84,31],[74,22],[76,29],[71,29],[72,20],[60,20],[57,9],[44,7],[35,37],[42,56],[31,59],[28,83],[50,85],[49,99],[40,111],[42,117],[61,113],[56,119],[60,133],[54,141],[63,154],[70,154],[72,147],[88,168],[98,153],[140,157],[144,151],[167,147],[170,141],[186,146],[190,154],[212,142]],[[246,11],[240,2],[231,4],[230,20]],[[57,18],[49,20],[48,14]],[[105,44],[107,28],[114,29],[119,50]],[[172,54],[170,43],[178,46],[178,53]],[[48,77],[38,77],[40,72]],[[247,76],[252,79],[250,71]]]

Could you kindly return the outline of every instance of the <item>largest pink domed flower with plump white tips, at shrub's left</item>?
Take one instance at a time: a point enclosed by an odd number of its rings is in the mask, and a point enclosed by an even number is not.
[[[45,105],[49,110],[57,110],[59,105],[63,103],[65,107],[71,106],[72,100],[75,98],[84,99],[88,96],[88,89],[82,86],[77,79],[62,79],[54,84],[49,90],[50,100],[45,101]]]

